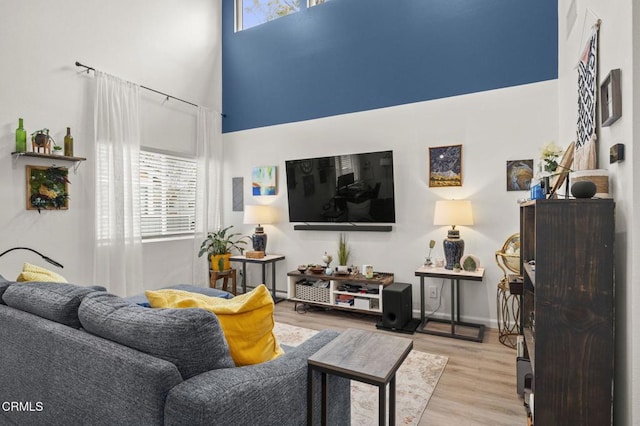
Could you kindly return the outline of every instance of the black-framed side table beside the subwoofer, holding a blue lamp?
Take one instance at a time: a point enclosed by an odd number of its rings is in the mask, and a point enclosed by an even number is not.
[[[482,342],[484,337],[484,325],[475,324],[470,322],[460,321],[460,280],[466,281],[482,281],[484,276],[484,268],[478,268],[477,271],[460,271],[453,272],[445,268],[432,268],[429,266],[421,266],[416,270],[416,276],[420,277],[420,324],[416,333],[434,334],[437,336],[453,337],[454,339],[471,340],[473,342]],[[425,291],[424,291],[424,279],[429,278],[444,278],[451,280],[451,320],[425,318]],[[451,324],[451,331],[439,331],[428,330],[427,324],[429,322],[448,323]],[[457,327],[470,327],[478,330],[476,336],[468,336],[466,334],[459,333]]]

